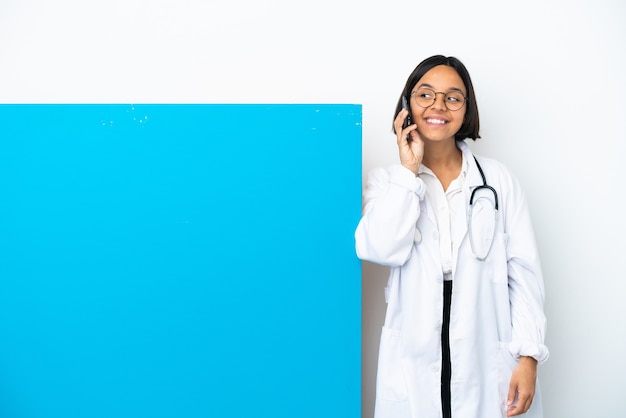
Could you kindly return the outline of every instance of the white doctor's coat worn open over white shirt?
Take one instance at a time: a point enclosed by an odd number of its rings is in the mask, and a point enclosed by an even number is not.
[[[468,145],[457,145],[470,162],[463,185],[469,208],[471,191],[483,182]],[[478,161],[487,183],[498,193],[499,221],[485,261],[472,254],[467,219],[458,217],[460,224],[453,229],[459,231],[453,237],[450,315],[454,418],[505,417],[509,382],[519,356],[532,356],[539,363],[548,358],[543,277],[525,195],[502,164],[487,158]],[[442,414],[443,273],[437,223],[424,195],[423,181],[400,165],[372,171],[355,233],[361,259],[391,267],[376,418]],[[479,229],[473,229],[475,240],[481,235]],[[487,239],[491,236],[487,234]],[[543,416],[539,385],[523,416]]]

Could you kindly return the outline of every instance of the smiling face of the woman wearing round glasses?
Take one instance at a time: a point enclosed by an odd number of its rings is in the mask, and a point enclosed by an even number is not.
[[[423,89],[430,89],[431,92],[437,93],[435,102],[428,107],[421,107],[417,104],[415,92],[428,92]],[[459,110],[452,111],[446,107],[445,94],[439,94],[440,92],[460,92],[467,97],[463,80],[454,68],[447,65],[438,65],[430,69],[411,90],[413,123],[417,125],[417,132],[424,141],[454,140],[454,135],[463,125],[466,105],[463,104]]]

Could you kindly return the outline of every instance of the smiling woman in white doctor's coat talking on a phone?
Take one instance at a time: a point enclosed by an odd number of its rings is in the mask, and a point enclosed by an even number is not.
[[[480,138],[465,66],[434,56],[409,76],[393,123],[400,164],[373,170],[361,259],[391,267],[377,418],[542,417],[544,287],[526,197]]]

